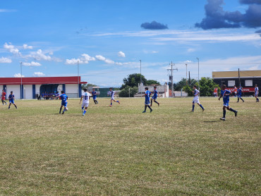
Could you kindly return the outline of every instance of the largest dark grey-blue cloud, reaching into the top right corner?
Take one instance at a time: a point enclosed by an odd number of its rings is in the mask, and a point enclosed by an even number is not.
[[[240,0],[249,4],[245,13],[240,11],[224,11],[224,0],[207,0],[205,5],[205,18],[195,27],[204,30],[219,28],[261,27],[261,0]],[[260,5],[259,5],[260,4]]]

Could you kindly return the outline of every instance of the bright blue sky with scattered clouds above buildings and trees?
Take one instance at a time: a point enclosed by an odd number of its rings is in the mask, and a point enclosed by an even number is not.
[[[260,0],[0,0],[0,77],[77,75],[120,86],[261,68]]]

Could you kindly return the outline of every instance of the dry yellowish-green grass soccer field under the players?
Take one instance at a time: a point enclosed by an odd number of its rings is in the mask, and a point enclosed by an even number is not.
[[[0,195],[260,195],[261,104],[216,98],[0,105]]]

